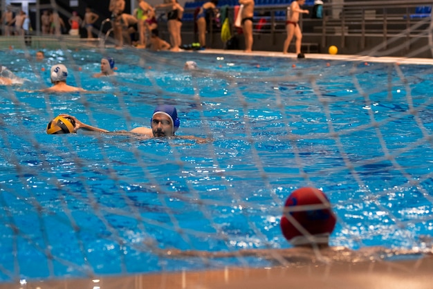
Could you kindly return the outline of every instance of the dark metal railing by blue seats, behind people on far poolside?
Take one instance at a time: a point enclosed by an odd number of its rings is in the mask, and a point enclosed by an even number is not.
[[[317,43],[322,47],[326,47],[326,39],[332,36],[340,37],[340,48],[344,48],[347,37],[353,35],[360,37],[360,49],[364,49],[369,36],[383,37],[385,45],[390,37],[427,37],[432,5],[432,0],[324,3],[322,19],[311,19],[313,6],[304,6],[310,10],[310,15],[301,15],[300,27],[304,36],[317,37]],[[255,34],[270,33],[272,37],[285,34],[287,6],[287,3],[282,4],[281,1],[274,5],[256,5]],[[193,30],[193,26],[188,26],[187,23],[190,21],[194,24],[194,9],[185,9],[187,17],[183,30]],[[234,9],[230,8],[228,15],[230,19],[234,19]],[[257,26],[259,19],[265,21],[260,28]],[[210,38],[213,39],[212,34],[220,31],[212,25]]]

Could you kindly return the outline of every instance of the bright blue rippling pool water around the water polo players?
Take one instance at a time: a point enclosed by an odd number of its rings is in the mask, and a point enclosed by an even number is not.
[[[34,53],[0,56],[24,79],[0,87],[0,281],[268,265],[158,249],[288,248],[282,204],[307,185],[333,204],[332,245],[429,245],[431,66],[107,50],[118,75],[95,79],[101,51]],[[57,62],[93,92],[38,92]],[[45,133],[59,113],[149,126],[160,102],[176,105],[178,135],[212,142]]]

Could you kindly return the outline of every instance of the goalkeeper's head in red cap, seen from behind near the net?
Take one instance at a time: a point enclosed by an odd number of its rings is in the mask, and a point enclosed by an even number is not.
[[[320,189],[302,187],[288,196],[280,227],[292,245],[328,245],[335,215]]]

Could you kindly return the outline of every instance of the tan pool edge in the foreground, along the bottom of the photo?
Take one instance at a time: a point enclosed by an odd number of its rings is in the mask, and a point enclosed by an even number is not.
[[[302,267],[226,268],[201,272],[136,274],[122,277],[93,277],[3,283],[8,288],[203,288],[203,289],[430,289],[433,283],[433,257],[413,261],[340,263]]]

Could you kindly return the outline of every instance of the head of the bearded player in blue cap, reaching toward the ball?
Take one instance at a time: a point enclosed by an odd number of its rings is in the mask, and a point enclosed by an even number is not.
[[[169,104],[156,106],[150,125],[156,137],[173,136],[181,125],[181,120],[177,117],[176,107]]]

